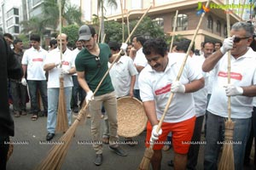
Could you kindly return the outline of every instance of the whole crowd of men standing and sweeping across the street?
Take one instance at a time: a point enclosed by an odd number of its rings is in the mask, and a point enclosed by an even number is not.
[[[187,39],[175,42],[171,47],[172,53],[169,53],[170,47],[161,38],[146,40],[142,36],[134,36],[129,46],[118,42],[98,43],[95,29],[84,25],[79,28],[79,38],[73,51],[67,47],[68,35],[62,33],[50,42],[48,52],[40,46],[40,37],[32,35],[32,47],[23,53],[22,41],[12,41],[12,37],[6,34],[5,41],[9,45],[13,43],[14,56],[23,69],[22,77],[9,77],[14,116],[26,116],[29,96],[31,120],[47,116],[46,140],[53,139],[60,92],[57,80],[62,77],[69,126],[72,108],[74,113],[78,113],[85,100],[90,103],[92,139],[102,141],[103,106],[106,110],[103,141],[119,156],[127,156],[118,144],[117,99],[136,97],[143,101],[148,116],[145,145],[149,147],[154,143],[151,159],[154,170],[160,169],[161,150],[170,135],[174,150],[170,166],[175,169],[196,168],[204,119],[204,168],[212,170],[218,169],[230,96],[231,118],[235,122],[233,140],[239,143],[233,146],[235,168],[243,169],[243,163],[248,163],[252,139],[256,136],[256,105],[253,103],[256,95],[256,53],[253,51],[255,47],[251,48],[255,44],[252,43],[254,28],[251,23],[237,22],[230,32],[231,37],[225,38],[224,42],[203,42],[198,53],[192,48],[178,80],[178,71],[189,48]],[[231,54],[229,84],[228,52]],[[112,70],[102,80],[111,63]],[[102,85],[96,91],[101,81]],[[171,93],[174,94],[172,103],[157,131]],[[40,111],[38,94],[44,111]],[[102,148],[101,143],[93,144],[96,166],[103,162]]]

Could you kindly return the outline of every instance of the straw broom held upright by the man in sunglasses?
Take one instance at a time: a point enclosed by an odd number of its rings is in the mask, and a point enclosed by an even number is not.
[[[227,2],[228,3],[228,2]],[[230,37],[230,14],[227,11],[227,33],[228,37]],[[230,84],[230,51],[228,52],[228,83]],[[225,141],[224,147],[222,151],[222,155],[220,157],[220,161],[218,163],[219,170],[233,170],[235,169],[234,164],[234,152],[233,152],[233,131],[234,131],[235,122],[231,120],[231,102],[230,96],[228,96],[228,120],[225,122]]]

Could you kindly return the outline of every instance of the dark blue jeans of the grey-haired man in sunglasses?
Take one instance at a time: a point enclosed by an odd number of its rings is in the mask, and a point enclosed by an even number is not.
[[[224,141],[224,121],[224,117],[208,112],[204,169],[217,170],[218,168],[218,154],[222,146],[218,142]],[[249,129],[251,128],[251,118],[232,119],[232,121],[235,122],[233,141],[239,142],[238,144],[233,144],[235,169],[241,170],[243,168]]]

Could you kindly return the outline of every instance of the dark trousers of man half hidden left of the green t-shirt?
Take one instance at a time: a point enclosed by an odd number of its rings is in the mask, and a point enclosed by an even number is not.
[[[72,107],[78,107],[79,101],[80,100],[80,106],[84,102],[85,98],[85,92],[83,88],[80,87],[79,82],[78,82],[78,76],[72,76],[73,79],[73,88],[72,88],[72,100],[73,100],[73,105]]]

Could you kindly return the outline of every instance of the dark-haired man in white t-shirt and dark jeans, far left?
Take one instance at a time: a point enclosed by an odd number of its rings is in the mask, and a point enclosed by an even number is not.
[[[38,120],[38,112],[40,111],[38,105],[38,89],[42,97],[44,105],[44,115],[47,116],[48,104],[47,104],[47,82],[44,71],[44,61],[48,52],[41,48],[40,37],[38,35],[32,35],[30,37],[32,48],[29,48],[23,54],[21,60],[22,68],[24,71],[24,76],[21,79],[21,83],[27,85],[31,100],[31,112],[32,121]],[[27,77],[25,78],[25,75]]]

